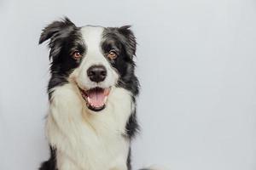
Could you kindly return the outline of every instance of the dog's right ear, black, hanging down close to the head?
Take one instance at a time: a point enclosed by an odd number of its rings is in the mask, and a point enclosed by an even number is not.
[[[121,26],[118,31],[125,37],[126,53],[132,59],[133,56],[136,55],[137,42],[134,33],[131,31],[131,26]]]

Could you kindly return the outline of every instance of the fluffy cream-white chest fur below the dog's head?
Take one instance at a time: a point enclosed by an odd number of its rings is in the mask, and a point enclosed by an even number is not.
[[[131,93],[124,88],[113,88],[107,107],[94,115],[86,112],[73,84],[55,88],[46,132],[57,149],[58,169],[126,169],[130,140],[125,125],[132,110]]]

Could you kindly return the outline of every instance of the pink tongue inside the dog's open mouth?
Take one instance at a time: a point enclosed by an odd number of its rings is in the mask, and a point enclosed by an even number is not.
[[[102,105],[104,105],[104,99],[105,99],[104,90],[101,90],[101,89],[92,90],[87,95],[89,98],[90,105],[95,107],[101,107]]]

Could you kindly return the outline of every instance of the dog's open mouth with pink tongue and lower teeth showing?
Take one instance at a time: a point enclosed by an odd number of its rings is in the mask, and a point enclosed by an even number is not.
[[[87,107],[92,111],[102,111],[105,108],[110,88],[90,88],[83,90],[79,88]]]

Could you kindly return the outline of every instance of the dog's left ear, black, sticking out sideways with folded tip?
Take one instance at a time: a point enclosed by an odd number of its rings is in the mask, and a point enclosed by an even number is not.
[[[55,35],[61,30],[69,27],[75,26],[71,20],[65,17],[63,20],[54,21],[49,26],[46,26],[41,33],[39,44],[45,42],[48,39],[55,37]]]

